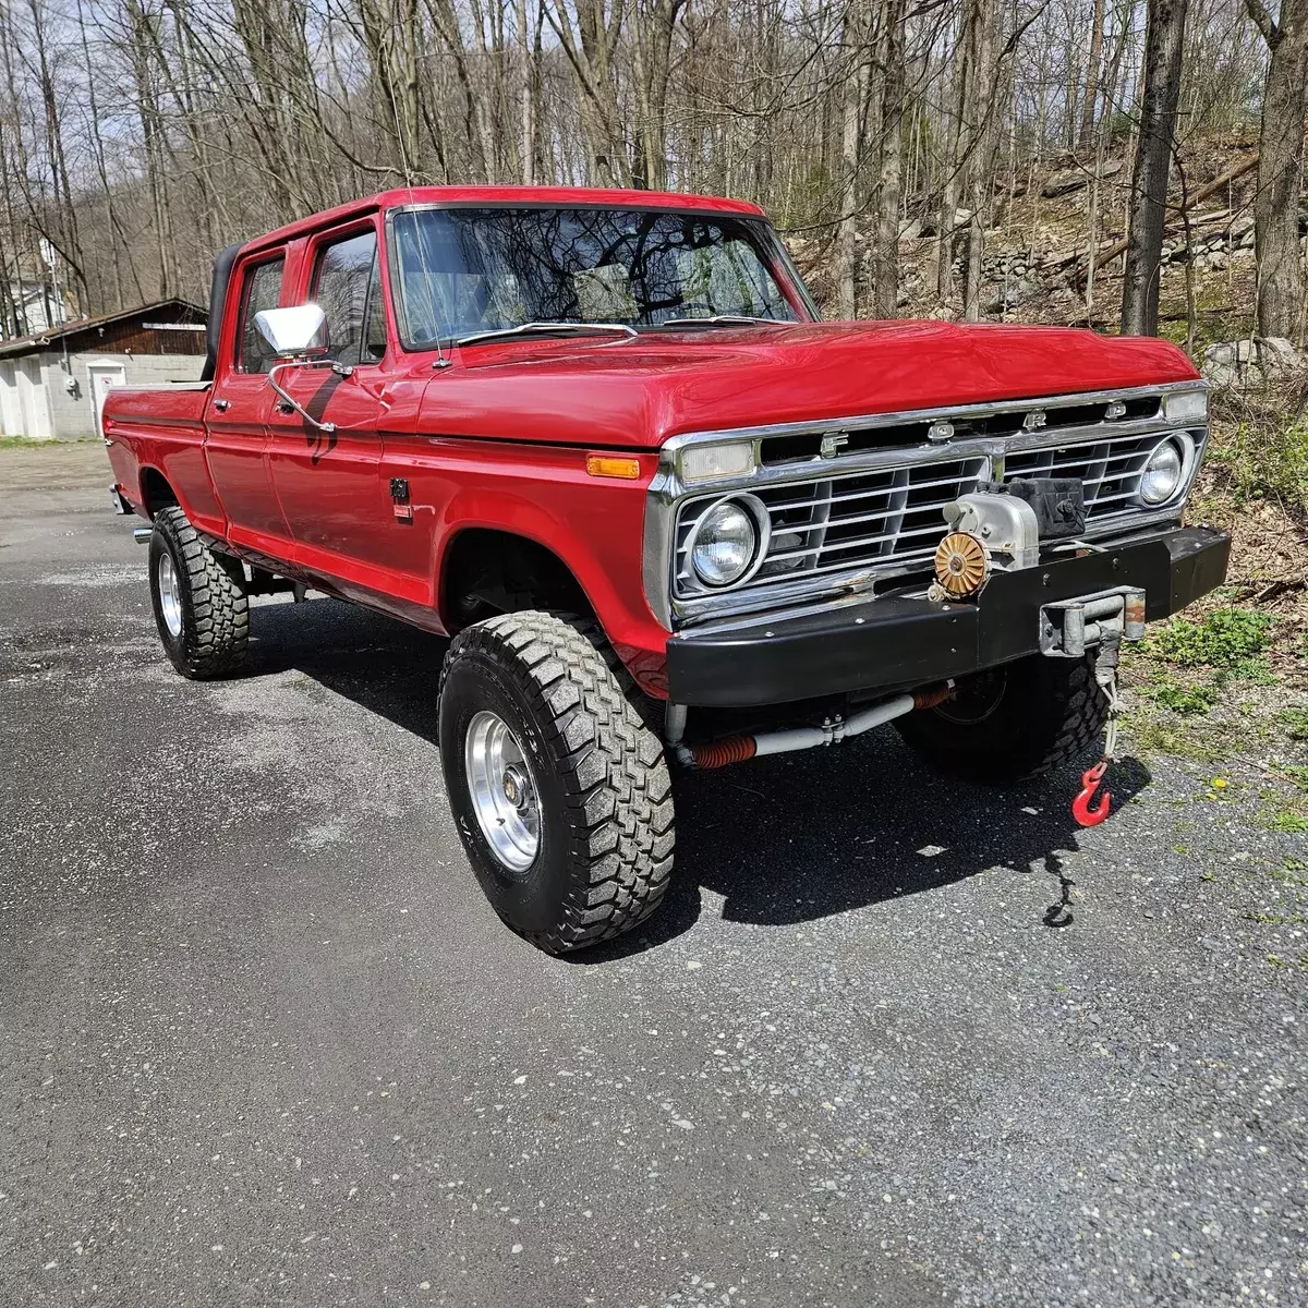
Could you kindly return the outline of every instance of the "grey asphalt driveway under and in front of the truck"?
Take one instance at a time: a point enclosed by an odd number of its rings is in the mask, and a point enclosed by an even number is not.
[[[447,816],[442,644],[263,603],[186,683],[109,480],[0,450],[0,1303],[1308,1301],[1253,760],[1091,832],[888,731],[691,777],[661,914],[549,959]]]

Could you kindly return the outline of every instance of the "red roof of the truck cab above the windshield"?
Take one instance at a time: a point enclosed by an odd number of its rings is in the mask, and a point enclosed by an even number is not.
[[[749,204],[746,200],[726,200],[712,195],[681,195],[675,191],[602,190],[581,186],[402,186],[351,200],[335,209],[310,215],[307,218],[297,218],[275,232],[254,237],[242,246],[242,250],[281,245],[310,232],[317,232],[319,228],[403,204],[708,209],[714,213],[764,216],[757,204]]]

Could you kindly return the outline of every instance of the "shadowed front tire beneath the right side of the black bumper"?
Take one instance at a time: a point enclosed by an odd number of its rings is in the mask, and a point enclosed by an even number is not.
[[[960,679],[954,698],[895,726],[940,772],[1008,785],[1083,757],[1107,721],[1093,657],[1032,654]]]

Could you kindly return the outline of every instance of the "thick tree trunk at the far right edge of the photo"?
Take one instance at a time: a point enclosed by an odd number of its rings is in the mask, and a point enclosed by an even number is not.
[[[1304,284],[1299,254],[1299,187],[1304,164],[1304,73],[1308,0],[1282,0],[1273,22],[1261,0],[1247,0],[1270,59],[1258,137],[1253,205],[1258,268],[1258,335],[1303,339]]]

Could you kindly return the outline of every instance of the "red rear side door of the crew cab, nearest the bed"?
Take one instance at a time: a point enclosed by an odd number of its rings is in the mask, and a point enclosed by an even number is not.
[[[273,559],[289,557],[290,530],[268,468],[268,370],[276,360],[254,326],[254,315],[276,309],[285,280],[285,254],[256,254],[233,269],[238,310],[230,354],[220,361],[207,417],[204,454],[234,544]]]

